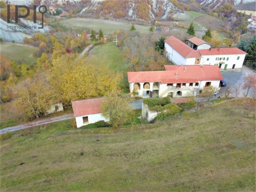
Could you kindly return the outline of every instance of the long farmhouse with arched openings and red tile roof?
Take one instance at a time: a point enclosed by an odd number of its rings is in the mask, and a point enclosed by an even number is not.
[[[223,80],[218,66],[165,65],[165,71],[128,72],[130,92],[140,97],[196,96],[204,87],[219,89]]]

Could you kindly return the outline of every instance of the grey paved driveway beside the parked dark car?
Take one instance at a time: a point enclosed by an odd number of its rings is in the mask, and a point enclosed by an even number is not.
[[[256,75],[256,73],[253,70],[245,66],[242,67],[241,71],[223,71],[221,73],[222,73],[222,76],[224,77],[224,80],[227,83],[226,87],[221,87],[221,90],[219,93],[221,97],[224,96],[224,93],[228,88],[232,88],[235,84],[238,84],[241,86],[239,97],[245,96],[246,90],[242,89],[244,77],[252,74]],[[255,89],[255,86],[250,89],[248,93],[248,97],[255,96],[254,89]],[[235,96],[235,93],[231,93],[230,96]]]

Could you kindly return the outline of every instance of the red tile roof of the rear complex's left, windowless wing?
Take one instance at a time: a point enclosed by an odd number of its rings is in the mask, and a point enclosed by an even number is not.
[[[165,40],[165,42],[171,46],[175,51],[177,51],[184,58],[196,58],[201,57],[200,53],[197,50],[192,49],[187,44],[184,44],[179,39],[171,36]]]

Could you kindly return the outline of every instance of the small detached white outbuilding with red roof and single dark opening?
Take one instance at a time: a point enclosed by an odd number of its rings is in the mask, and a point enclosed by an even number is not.
[[[108,121],[101,114],[101,105],[105,101],[105,97],[94,99],[81,99],[72,102],[74,116],[76,118],[76,127],[98,121]]]

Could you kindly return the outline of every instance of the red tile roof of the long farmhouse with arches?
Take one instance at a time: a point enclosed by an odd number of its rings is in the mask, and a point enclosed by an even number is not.
[[[128,72],[129,83],[161,82],[195,83],[198,81],[222,80],[218,66],[214,65],[165,65],[166,71]],[[186,72],[184,71],[186,68]],[[177,73],[177,77],[175,76]]]

